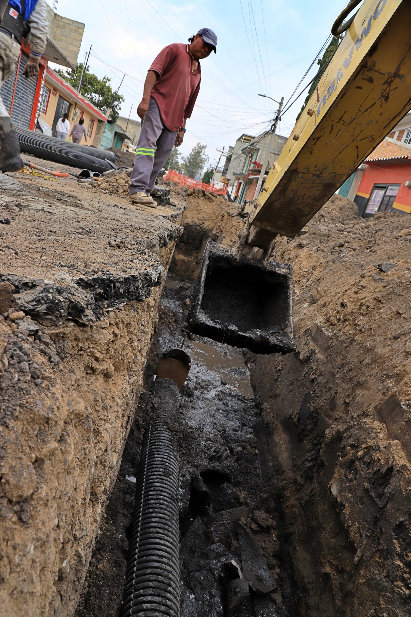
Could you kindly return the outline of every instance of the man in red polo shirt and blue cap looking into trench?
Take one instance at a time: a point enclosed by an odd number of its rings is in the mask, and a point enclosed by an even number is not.
[[[142,123],[129,184],[132,204],[157,206],[150,196],[157,174],[173,146],[182,144],[185,122],[200,91],[200,59],[215,54],[216,46],[213,30],[201,28],[188,45],[173,43],[162,49],[149,68],[137,107]]]

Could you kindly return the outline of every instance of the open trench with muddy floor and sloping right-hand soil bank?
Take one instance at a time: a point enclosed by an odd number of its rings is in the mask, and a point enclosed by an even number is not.
[[[158,404],[153,375],[182,344],[192,368],[170,426],[181,615],[411,615],[405,217],[358,219],[336,197],[303,236],[279,239],[274,257],[294,269],[297,349],[256,355],[185,337],[206,239],[232,244],[242,225],[235,212],[229,225],[219,214],[210,224],[205,200],[188,202],[76,617],[120,615],[142,433]],[[242,602],[230,612],[233,581]]]

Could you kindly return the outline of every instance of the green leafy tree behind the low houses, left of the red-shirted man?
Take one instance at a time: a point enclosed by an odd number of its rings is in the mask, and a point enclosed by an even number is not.
[[[83,64],[80,63],[76,65],[76,68],[68,71],[63,71],[61,68],[55,69],[55,73],[68,81],[73,88],[78,89],[82,70]],[[110,81],[110,77],[106,76],[99,79],[97,75],[90,73],[89,67],[87,67],[86,71],[83,73],[80,94],[83,94],[88,101],[97,107],[97,109],[100,109],[104,114],[107,112],[107,109],[111,108],[110,118],[113,122],[116,122],[121,103],[124,101],[124,96],[123,94],[118,94],[113,91],[112,86],[110,86]]]

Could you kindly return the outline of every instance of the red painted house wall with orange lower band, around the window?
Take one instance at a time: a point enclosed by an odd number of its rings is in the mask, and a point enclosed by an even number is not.
[[[381,165],[379,163],[368,164],[362,176],[357,195],[368,199],[374,184],[401,184],[393,208],[402,212],[411,213],[411,189],[407,189],[404,183],[411,181],[411,162]]]

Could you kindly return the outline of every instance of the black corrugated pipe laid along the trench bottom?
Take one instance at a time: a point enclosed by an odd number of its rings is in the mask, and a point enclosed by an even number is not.
[[[167,424],[189,370],[190,357],[180,349],[157,366],[159,402],[143,437],[121,617],[180,615],[179,460]]]

